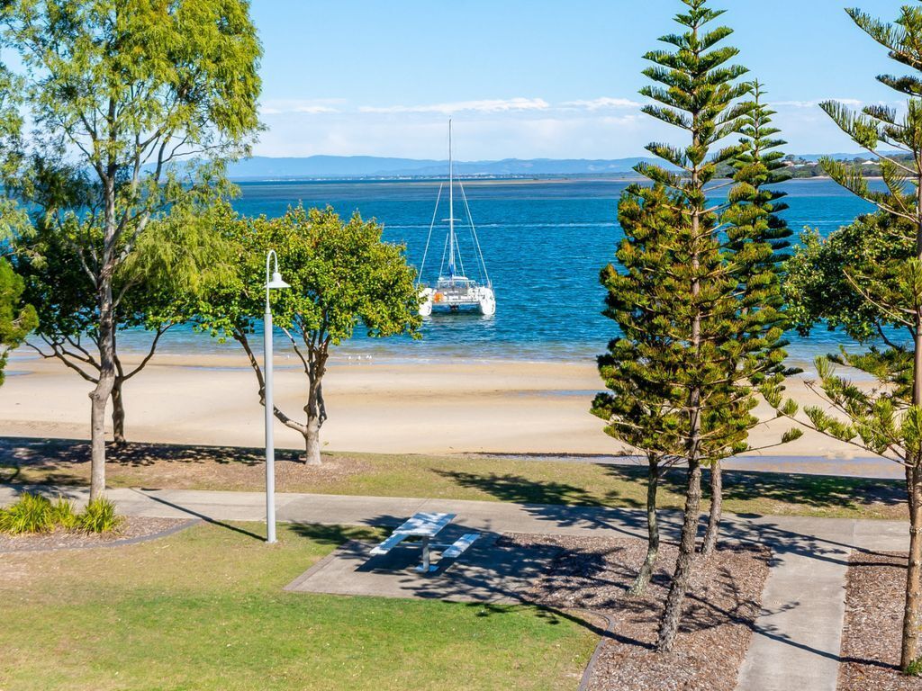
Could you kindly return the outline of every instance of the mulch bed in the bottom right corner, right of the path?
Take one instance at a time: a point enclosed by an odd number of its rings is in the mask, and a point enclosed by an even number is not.
[[[905,552],[852,552],[845,585],[839,691],[922,691],[900,673]]]

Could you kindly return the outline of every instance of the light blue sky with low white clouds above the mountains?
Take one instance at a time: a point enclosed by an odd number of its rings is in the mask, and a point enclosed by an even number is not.
[[[895,18],[915,0],[856,0]],[[254,153],[621,158],[675,136],[638,110],[642,55],[679,0],[252,0],[265,56]],[[839,0],[715,0],[739,63],[765,82],[797,153],[855,151],[817,108],[898,94],[898,66]]]

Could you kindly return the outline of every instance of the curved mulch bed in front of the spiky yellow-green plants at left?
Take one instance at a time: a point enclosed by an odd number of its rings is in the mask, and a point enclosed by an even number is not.
[[[7,535],[0,533],[0,552],[35,552],[133,544],[170,534],[195,521],[131,516],[112,533],[84,533],[56,529],[52,533]]]

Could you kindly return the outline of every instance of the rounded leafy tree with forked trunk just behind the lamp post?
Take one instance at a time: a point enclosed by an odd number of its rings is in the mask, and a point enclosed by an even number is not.
[[[301,433],[306,463],[321,463],[326,419],[323,382],[331,348],[356,328],[373,337],[419,335],[420,291],[404,247],[382,240],[382,227],[356,214],[343,222],[331,208],[291,208],[284,217],[246,218],[225,209],[218,227],[236,248],[237,271],[196,308],[201,327],[237,341],[256,375],[265,404],[263,370],[251,336],[265,309],[266,252],[290,289],[272,291],[273,322],[288,337],[307,378],[301,419],[276,406],[278,420]]]

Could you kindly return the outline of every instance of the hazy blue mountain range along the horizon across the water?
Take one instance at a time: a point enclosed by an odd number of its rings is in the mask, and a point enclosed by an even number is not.
[[[855,158],[857,154],[833,154]],[[797,158],[815,161],[820,155]],[[459,175],[476,177],[545,177],[551,175],[630,176],[633,167],[653,158],[503,158],[502,160],[455,161]],[[233,180],[298,180],[331,178],[431,178],[443,177],[447,160],[384,158],[376,156],[308,156],[271,158],[254,156],[231,165]]]

